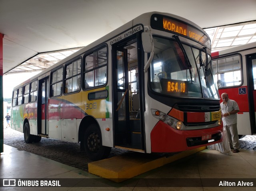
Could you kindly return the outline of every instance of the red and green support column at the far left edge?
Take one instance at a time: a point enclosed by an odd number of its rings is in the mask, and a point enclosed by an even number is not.
[[[0,153],[4,152],[3,37],[0,33]]]

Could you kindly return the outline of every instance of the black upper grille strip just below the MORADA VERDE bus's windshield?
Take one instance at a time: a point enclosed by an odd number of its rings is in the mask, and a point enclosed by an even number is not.
[[[220,104],[197,104],[197,103],[178,103],[178,110],[183,112],[214,112],[220,110]]]

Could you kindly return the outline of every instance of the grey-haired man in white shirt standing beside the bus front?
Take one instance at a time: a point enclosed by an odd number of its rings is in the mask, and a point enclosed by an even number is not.
[[[238,153],[237,113],[239,112],[239,107],[235,100],[228,98],[227,93],[223,93],[221,98],[223,100],[223,102],[220,103],[223,127],[226,128],[230,147],[232,149],[234,148],[233,153]]]

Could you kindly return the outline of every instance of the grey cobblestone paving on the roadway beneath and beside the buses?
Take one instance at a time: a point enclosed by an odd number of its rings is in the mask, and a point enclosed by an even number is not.
[[[4,144],[24,150],[54,161],[88,172],[88,163],[92,162],[85,154],[80,152],[80,144],[61,140],[42,138],[39,143],[26,144],[23,133],[4,128]],[[240,139],[240,149],[256,151],[256,136],[245,136]],[[112,148],[110,156],[124,154],[130,151]]]

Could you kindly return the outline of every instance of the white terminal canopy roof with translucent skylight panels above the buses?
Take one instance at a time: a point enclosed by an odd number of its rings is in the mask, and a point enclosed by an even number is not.
[[[41,71],[145,12],[204,28],[212,50],[256,41],[255,0],[2,0],[4,74]]]

